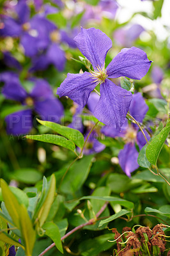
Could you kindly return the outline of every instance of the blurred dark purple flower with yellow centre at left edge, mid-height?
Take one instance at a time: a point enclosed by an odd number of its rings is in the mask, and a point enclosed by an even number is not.
[[[33,127],[33,113],[42,120],[59,122],[63,115],[63,106],[52,93],[49,83],[43,79],[32,79],[35,83],[31,92],[27,93],[21,86],[19,78],[12,73],[1,74],[4,82],[2,93],[6,99],[19,101],[23,109],[6,116],[7,132],[13,135],[27,134]]]

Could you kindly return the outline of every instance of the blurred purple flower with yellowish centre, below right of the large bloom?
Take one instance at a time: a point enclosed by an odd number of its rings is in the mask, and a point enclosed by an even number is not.
[[[130,114],[137,120],[138,122],[143,122],[143,118],[148,111],[148,106],[146,105],[141,93],[136,93],[132,97],[132,101],[130,104],[129,112]],[[123,137],[123,140],[126,142],[124,148],[120,150],[120,154],[118,156],[120,166],[129,177],[134,170],[139,167],[137,163],[138,152],[135,148],[135,143],[139,146],[139,149],[143,148],[146,144],[146,140],[144,139],[143,133],[139,131],[139,127],[137,125],[128,125],[127,120],[122,127],[122,131],[118,132],[114,127],[105,126],[102,129],[102,132],[106,136],[110,136],[112,138],[115,137]],[[144,130],[146,138],[150,139],[148,133]]]

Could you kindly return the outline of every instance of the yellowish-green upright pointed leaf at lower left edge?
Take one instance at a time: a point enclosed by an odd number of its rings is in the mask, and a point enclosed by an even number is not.
[[[1,179],[1,189],[6,209],[9,212],[13,223],[16,225],[17,228],[20,228],[20,204],[3,179]]]

